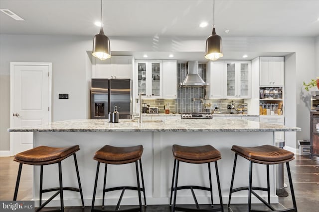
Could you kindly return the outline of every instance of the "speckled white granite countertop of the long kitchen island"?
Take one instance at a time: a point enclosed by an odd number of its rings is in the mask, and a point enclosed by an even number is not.
[[[301,131],[297,127],[259,123],[247,120],[230,119],[196,119],[196,120],[163,120],[162,122],[132,122],[120,120],[109,123],[108,120],[80,119],[52,122],[49,125],[17,127],[8,132],[274,132]]]

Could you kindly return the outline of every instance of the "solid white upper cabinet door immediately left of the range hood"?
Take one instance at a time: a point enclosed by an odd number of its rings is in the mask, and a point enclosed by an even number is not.
[[[163,61],[163,99],[177,98],[177,61]]]

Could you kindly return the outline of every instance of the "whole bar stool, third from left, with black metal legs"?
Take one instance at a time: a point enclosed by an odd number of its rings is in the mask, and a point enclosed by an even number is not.
[[[173,150],[173,155],[174,155],[175,159],[174,159],[174,169],[173,169],[173,177],[172,177],[172,182],[171,182],[170,201],[169,201],[169,205],[171,205],[172,194],[174,191],[174,201],[173,201],[173,207],[172,207],[171,211],[174,212],[176,210],[176,211],[182,211],[182,212],[191,212],[191,211],[194,211],[194,212],[198,212],[198,211],[206,211],[206,212],[221,211],[221,212],[224,212],[223,201],[222,201],[221,190],[220,190],[218,167],[217,167],[217,160],[221,159],[220,152],[211,145],[181,146],[181,145],[174,144],[172,147],[172,150]],[[177,163],[176,163],[176,161],[177,161]],[[202,187],[202,186],[178,186],[177,187],[179,161],[186,162],[186,163],[195,163],[195,164],[207,163],[208,164],[208,175],[209,175],[209,188]],[[212,190],[212,185],[211,185],[210,162],[215,162],[220,207],[209,208],[209,209],[200,209],[193,189],[210,191],[211,205],[213,206],[213,190]],[[175,186],[173,187],[174,177],[175,177],[175,169],[176,169],[176,178],[175,178]],[[176,207],[177,190],[182,190],[182,189],[190,189],[192,196],[194,198],[196,209]]]

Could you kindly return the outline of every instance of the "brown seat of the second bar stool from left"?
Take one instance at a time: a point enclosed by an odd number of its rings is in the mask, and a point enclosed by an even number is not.
[[[132,163],[141,159],[143,146],[116,147],[105,145],[95,152],[93,159],[109,164]]]

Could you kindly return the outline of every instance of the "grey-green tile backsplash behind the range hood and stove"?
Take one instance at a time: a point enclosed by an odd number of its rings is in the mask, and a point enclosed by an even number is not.
[[[206,79],[206,64],[198,64],[198,74],[204,81]],[[158,107],[159,113],[164,113],[164,105],[169,107],[170,113],[198,113],[204,112],[204,103],[211,103],[211,110],[219,107],[220,111],[227,111],[227,104],[232,100],[197,100],[206,96],[206,88],[190,88],[179,87],[187,75],[187,64],[177,64],[177,99],[154,99],[142,100],[142,103],[147,103],[151,107]],[[243,99],[234,100],[235,106],[244,103]]]

